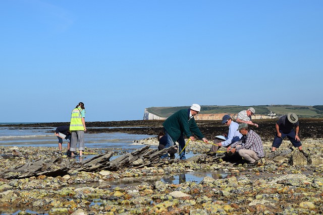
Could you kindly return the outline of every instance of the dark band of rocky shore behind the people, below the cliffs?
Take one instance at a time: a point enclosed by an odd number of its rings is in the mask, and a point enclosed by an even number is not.
[[[163,132],[163,122],[165,120],[129,120],[129,121],[106,121],[106,122],[86,122],[87,133],[111,133],[122,132],[132,134],[158,135]],[[275,124],[277,119],[256,119],[253,120],[259,124],[259,127],[250,128],[256,131],[261,138],[265,140],[273,140],[275,136]],[[228,132],[228,127],[221,124],[221,120],[196,120],[201,132],[209,140],[213,140],[214,136],[222,135]],[[28,123],[28,124],[12,124],[0,127],[13,127],[14,129],[26,127],[53,127],[60,125],[69,125],[69,122],[52,122],[52,123]],[[323,138],[323,118],[300,118],[300,138]]]

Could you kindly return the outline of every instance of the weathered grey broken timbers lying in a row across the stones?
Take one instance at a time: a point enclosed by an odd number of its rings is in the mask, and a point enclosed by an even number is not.
[[[174,146],[176,147],[176,146]],[[160,159],[166,153],[169,153],[174,147],[166,148],[161,151],[151,150],[150,145],[145,146],[126,155],[120,156],[110,161],[113,153],[98,155],[83,162],[75,162],[75,160],[62,158],[61,156],[45,160],[40,158],[34,162],[27,162],[26,164],[6,170],[0,173],[0,178],[20,179],[27,177],[45,176],[64,176],[74,171],[97,172],[101,170],[117,171],[122,168],[142,168],[142,167],[158,167],[164,164],[171,164],[178,162],[178,159]],[[220,157],[216,154],[212,155],[198,155],[189,159],[198,163],[209,163],[218,160]]]

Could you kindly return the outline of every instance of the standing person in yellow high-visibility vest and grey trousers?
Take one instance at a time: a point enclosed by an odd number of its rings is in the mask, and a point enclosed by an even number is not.
[[[80,102],[73,110],[71,115],[70,131],[71,131],[71,144],[70,151],[71,156],[76,157],[74,152],[76,151],[77,144],[79,144],[80,158],[83,157],[84,147],[84,132],[85,126],[85,108],[84,103]]]

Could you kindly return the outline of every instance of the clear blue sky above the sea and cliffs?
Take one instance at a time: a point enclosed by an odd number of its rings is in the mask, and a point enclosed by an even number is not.
[[[323,1],[2,1],[0,122],[323,105]]]

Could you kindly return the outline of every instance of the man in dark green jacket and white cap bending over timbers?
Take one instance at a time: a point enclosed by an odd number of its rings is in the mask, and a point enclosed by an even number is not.
[[[165,135],[167,136],[167,145],[165,148],[174,146],[177,141],[179,144],[180,159],[185,160],[185,140],[184,136],[195,140],[194,134],[208,144],[208,140],[197,127],[194,116],[200,112],[201,107],[198,104],[192,104],[189,109],[182,109],[168,117],[163,123]],[[168,154],[161,158],[169,157]]]

